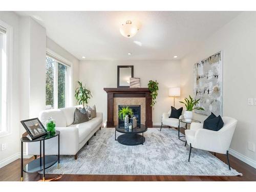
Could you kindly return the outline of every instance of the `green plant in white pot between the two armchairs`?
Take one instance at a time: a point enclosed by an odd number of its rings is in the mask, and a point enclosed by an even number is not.
[[[199,107],[196,107],[195,105],[199,102],[200,99],[198,100],[194,100],[190,95],[189,95],[189,99],[188,98],[185,98],[184,99],[185,102],[183,101],[180,101],[181,103],[185,104],[186,106],[186,111],[184,113],[184,118],[185,118],[185,121],[187,122],[191,122],[192,118],[193,118],[193,110],[203,110],[203,108],[199,108]]]

